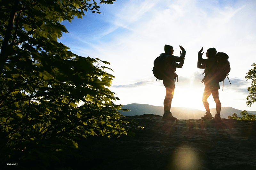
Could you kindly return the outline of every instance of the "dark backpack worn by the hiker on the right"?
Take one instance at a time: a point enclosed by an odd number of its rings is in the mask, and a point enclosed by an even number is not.
[[[215,56],[218,63],[214,76],[219,82],[221,82],[224,81],[226,77],[228,78],[228,73],[230,72],[230,63],[228,62],[228,55],[226,53],[217,53]]]

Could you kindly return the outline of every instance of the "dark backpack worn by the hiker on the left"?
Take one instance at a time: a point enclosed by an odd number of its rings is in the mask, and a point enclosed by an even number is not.
[[[162,54],[159,57],[157,57],[154,60],[154,67],[153,67],[153,74],[156,77],[156,79],[158,80],[163,80],[165,77],[169,77],[170,75],[167,75],[168,73],[165,70],[165,56],[166,54]],[[175,63],[171,63],[171,72],[173,72],[172,74],[175,75],[175,77],[177,77],[177,81],[178,81],[178,75],[175,73],[176,70],[176,66]],[[169,70],[170,72],[170,70]],[[170,74],[170,73],[169,73]]]

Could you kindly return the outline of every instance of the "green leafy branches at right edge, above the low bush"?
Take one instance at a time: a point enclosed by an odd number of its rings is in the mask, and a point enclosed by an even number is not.
[[[248,87],[248,91],[250,93],[249,96],[246,97],[248,107],[251,107],[252,103],[256,102],[256,63],[253,63],[253,68],[249,70],[246,80],[252,79],[252,86]]]

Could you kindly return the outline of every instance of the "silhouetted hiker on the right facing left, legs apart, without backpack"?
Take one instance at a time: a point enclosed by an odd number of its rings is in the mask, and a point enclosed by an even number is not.
[[[204,79],[202,82],[204,82],[204,94],[202,101],[204,103],[204,108],[206,110],[206,113],[202,119],[212,119],[212,113],[210,113],[210,106],[207,102],[208,97],[212,94],[212,97],[216,103],[216,115],[213,117],[213,119],[219,119],[220,120],[220,110],[221,110],[221,103],[219,99],[219,89],[220,84],[219,81],[215,78],[214,73],[217,69],[217,59],[215,58],[215,54],[217,53],[215,48],[209,48],[206,52],[207,59],[202,58],[202,49],[198,53],[198,60],[197,60],[197,68],[204,68]]]

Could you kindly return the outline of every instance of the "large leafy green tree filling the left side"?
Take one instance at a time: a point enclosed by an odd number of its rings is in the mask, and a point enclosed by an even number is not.
[[[112,4],[114,0],[100,0]],[[61,22],[82,18],[90,0],[1,1],[0,160],[49,166],[57,151],[77,148],[88,135],[132,135],[108,87],[109,62],[81,57],[57,42]],[[69,154],[69,156],[72,154]],[[62,154],[63,156],[63,154]],[[39,161],[40,160],[40,161]]]

